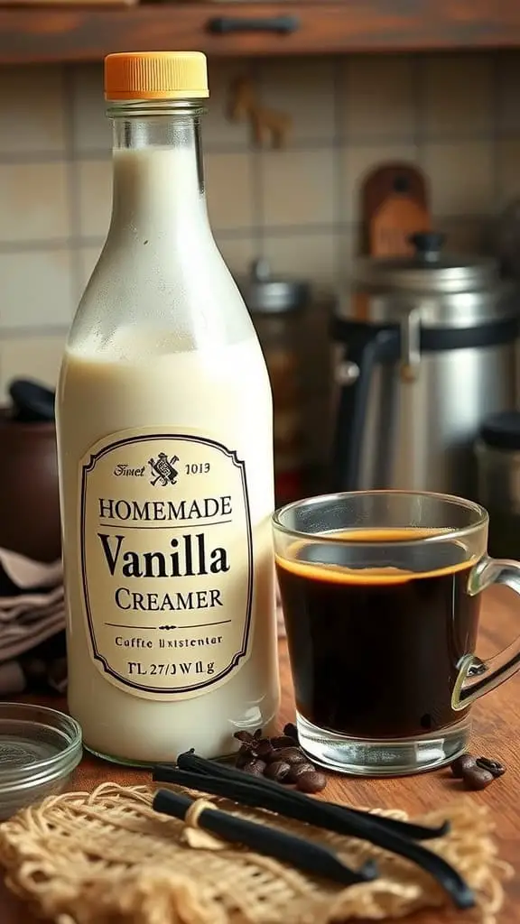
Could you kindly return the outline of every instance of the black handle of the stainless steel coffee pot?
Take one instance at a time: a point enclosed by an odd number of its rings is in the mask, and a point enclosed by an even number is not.
[[[341,339],[347,341],[344,364],[336,373],[340,400],[332,449],[333,491],[357,491],[365,419],[374,367],[399,357],[399,329],[356,330],[349,325]],[[346,374],[345,374],[346,373]]]

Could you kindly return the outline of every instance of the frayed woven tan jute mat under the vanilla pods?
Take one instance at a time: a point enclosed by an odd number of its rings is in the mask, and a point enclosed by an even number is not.
[[[355,868],[377,859],[378,880],[344,888],[158,815],[154,792],[107,783],[23,809],[0,825],[7,884],[57,924],[329,924],[402,918],[448,903],[427,873],[364,841],[207,796],[218,808],[328,845]],[[421,821],[445,819],[451,833],[428,846],[474,889],[469,919],[494,924],[509,869],[497,855],[489,813],[468,799]]]

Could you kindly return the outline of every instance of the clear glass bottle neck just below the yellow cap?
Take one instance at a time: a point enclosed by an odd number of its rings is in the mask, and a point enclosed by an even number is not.
[[[125,103],[114,119],[111,233],[157,237],[208,228],[200,103]]]

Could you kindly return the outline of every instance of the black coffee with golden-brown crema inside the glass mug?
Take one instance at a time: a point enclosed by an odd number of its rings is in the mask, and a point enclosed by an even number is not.
[[[292,561],[277,561],[296,705],[309,722],[396,738],[460,721],[451,696],[457,664],[477,640],[473,564],[454,541],[404,547],[425,535],[414,532],[358,534],[389,543],[371,547],[369,567],[366,548],[335,542],[300,543]]]

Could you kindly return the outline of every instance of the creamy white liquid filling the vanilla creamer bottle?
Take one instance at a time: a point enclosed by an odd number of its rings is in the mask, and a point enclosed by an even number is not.
[[[68,599],[68,705],[80,722],[88,748],[130,762],[173,760],[188,748],[206,756],[227,753],[233,749],[233,732],[243,727],[268,727],[279,706],[270,524],[274,506],[270,388],[265,361],[247,311],[206,229],[204,216],[197,211],[196,203],[190,209],[183,200],[184,195],[192,196],[189,190],[193,179],[192,161],[185,154],[118,152],[113,227],[83,298],[80,311],[83,310],[84,319],[80,316],[76,331],[73,329],[58,395]],[[174,203],[165,206],[164,190],[167,182],[171,185],[176,178],[179,195],[175,201],[177,211],[172,214]],[[193,348],[195,343],[197,348]],[[92,496],[86,495],[91,518],[87,538],[81,545],[81,471],[84,478],[90,454],[93,449],[95,454],[99,441],[140,431],[166,433],[173,438],[177,434],[194,433],[217,441],[243,463],[247,480],[254,562],[247,653],[215,686],[209,683],[195,693],[192,690],[186,696],[175,693],[169,699],[164,688],[170,681],[179,682],[179,671],[184,669],[181,663],[190,660],[186,650],[179,648],[180,642],[189,646],[194,638],[197,646],[191,656],[192,667],[186,668],[191,671],[188,680],[192,682],[193,671],[199,670],[201,678],[207,680],[204,665],[212,663],[208,659],[218,645],[218,638],[230,631],[233,618],[242,618],[248,543],[243,528],[244,508],[242,504],[239,509],[236,491],[233,495],[236,527],[232,517],[227,520],[224,516],[230,505],[226,499],[227,476],[222,476],[224,468],[218,474],[213,462],[211,466],[204,462],[206,458],[215,459],[215,454],[203,453],[200,464],[196,454],[187,461],[187,444],[182,444],[184,449],[179,451],[179,459],[172,455],[173,449],[166,454],[168,465],[175,466],[174,477],[179,476],[174,487],[167,485],[166,480],[163,487],[160,475],[155,484],[150,468],[155,460],[149,461],[148,446],[142,459],[135,446],[130,446],[129,477],[123,474],[116,479],[114,466],[101,468],[105,458],[112,456],[103,456],[101,462],[96,462],[99,470],[107,474],[96,475],[98,468],[94,467],[88,475],[97,481]],[[157,449],[160,448],[158,444]],[[126,463],[126,456],[114,458],[118,463],[121,460]],[[229,466],[226,471],[238,471],[230,462]],[[192,496],[200,501],[224,495],[220,516],[227,525],[221,528],[214,524],[204,531],[197,521],[191,520],[180,524],[111,520],[114,510],[123,510],[123,514],[130,510],[131,498],[141,489],[145,492],[141,496],[149,501],[149,509],[155,509],[156,498],[173,497],[177,505],[180,499],[185,499],[187,510]],[[118,497],[126,500],[114,506],[112,501]],[[157,564],[157,556],[153,561],[152,556],[146,565],[148,575],[136,577],[139,568],[145,570],[142,563],[146,556],[130,552],[127,556],[130,565],[127,562],[121,567],[121,564],[125,550],[137,547],[139,537],[144,535],[143,526],[148,529],[145,539],[150,549],[158,547],[159,541],[163,549],[170,541],[180,549],[185,549],[183,542],[192,545],[184,558],[182,554],[180,558],[166,556],[162,564]],[[228,531],[224,533],[222,529]],[[186,539],[187,534],[192,538]],[[223,546],[224,552],[213,553],[213,537],[221,535],[226,538],[216,539],[214,545]],[[179,537],[177,543],[176,537]],[[224,564],[220,561],[221,569],[215,575],[185,577],[182,568],[190,567],[186,565],[188,555],[190,561],[191,556],[196,561],[195,570],[203,568],[197,545],[201,541],[206,543],[203,549],[206,570],[210,568],[210,560],[214,561],[210,558],[212,554],[217,559],[224,554],[228,558]],[[96,660],[93,656],[93,634],[85,614],[83,547],[87,547],[90,556],[87,583],[90,583],[92,620],[96,626],[103,625],[106,633],[103,638],[108,639],[101,643],[101,654],[109,666],[117,662],[118,670],[122,671],[120,676],[124,674],[137,684],[152,685],[147,687],[145,695],[139,689],[125,687],[120,677],[115,679],[106,672],[103,658]],[[173,564],[168,565],[170,559]],[[177,577],[159,576],[164,561]],[[99,563],[97,571],[93,562]],[[180,575],[176,568],[180,569]],[[124,574],[127,577],[121,577]],[[197,596],[201,588],[202,596]],[[217,590],[204,590],[207,588]],[[113,605],[115,592],[122,602],[119,610]],[[167,609],[155,612],[161,608],[165,595],[173,601],[181,598],[184,607],[189,597],[191,611],[180,607],[180,612]],[[100,600],[110,601],[106,612],[102,612]],[[197,601],[202,606],[200,618]],[[213,618],[216,623],[208,629],[189,627],[190,621],[192,625],[204,626]],[[227,623],[222,629],[217,626],[219,618]],[[167,631],[147,628],[155,620],[157,624],[172,626],[166,626]],[[179,630],[180,622],[188,627]],[[131,627],[134,623],[143,627],[134,630]],[[123,624],[126,627],[113,627]],[[162,638],[166,640],[160,641]],[[166,653],[159,650],[159,645],[167,646],[169,639],[177,647],[170,646]],[[176,670],[177,675],[172,679],[167,675],[168,670]]]

